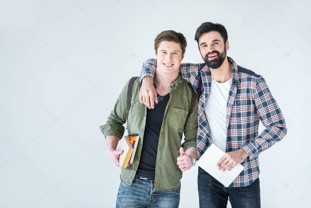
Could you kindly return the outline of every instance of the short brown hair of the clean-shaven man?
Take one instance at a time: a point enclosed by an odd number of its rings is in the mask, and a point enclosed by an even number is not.
[[[173,30],[166,30],[161,32],[159,35],[156,36],[155,39],[155,50],[157,53],[158,47],[160,45],[160,42],[166,40],[166,41],[174,41],[176,43],[180,44],[182,55],[186,52],[187,47],[187,41],[185,36],[183,36],[180,32],[175,32]]]

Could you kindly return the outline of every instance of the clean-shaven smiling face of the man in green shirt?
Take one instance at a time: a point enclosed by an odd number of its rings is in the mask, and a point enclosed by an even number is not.
[[[165,74],[178,74],[180,62],[183,60],[180,43],[163,40],[156,51],[157,70]]]

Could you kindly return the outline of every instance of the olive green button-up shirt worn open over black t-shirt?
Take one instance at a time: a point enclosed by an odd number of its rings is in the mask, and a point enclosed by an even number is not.
[[[100,126],[103,135],[123,137],[126,121],[126,104],[128,83],[122,89],[121,94],[111,111],[108,121]],[[154,82],[155,87],[156,82]],[[139,91],[141,83],[136,78],[133,83],[131,109],[128,115],[128,134],[140,136],[134,156],[133,164],[127,168],[121,168],[120,178],[123,182],[132,185],[135,177],[144,141],[144,130],[146,125],[146,106],[139,102]],[[156,157],[155,190],[172,190],[180,188],[182,171],[177,165],[179,149],[183,147],[186,151],[190,147],[196,147],[197,140],[197,97],[193,112],[189,112],[191,102],[191,87],[178,76],[176,81],[170,85],[169,101],[165,108]],[[184,133],[184,142],[181,144]]]

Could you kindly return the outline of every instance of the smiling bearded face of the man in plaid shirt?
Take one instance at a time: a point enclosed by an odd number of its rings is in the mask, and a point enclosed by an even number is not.
[[[210,31],[201,35],[198,49],[205,63],[211,69],[218,69],[227,58],[229,42],[224,43],[219,32]]]

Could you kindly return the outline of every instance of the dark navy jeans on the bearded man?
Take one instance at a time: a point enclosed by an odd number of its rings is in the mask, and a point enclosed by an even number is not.
[[[200,207],[227,207],[229,197],[232,208],[260,208],[259,178],[246,187],[224,187],[199,167],[197,185]]]

